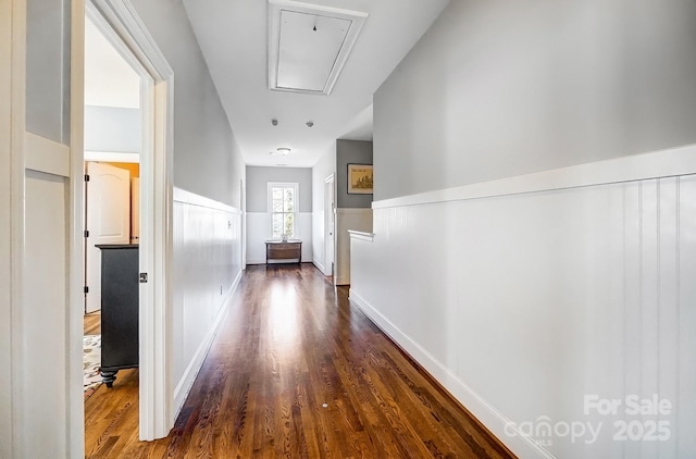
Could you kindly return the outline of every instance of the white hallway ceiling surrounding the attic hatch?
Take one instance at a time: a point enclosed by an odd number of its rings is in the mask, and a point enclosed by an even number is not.
[[[366,13],[330,95],[269,89],[269,28],[273,22],[269,12],[273,8],[268,0],[184,0],[247,164],[311,168],[337,138],[372,139],[372,95],[449,0],[273,3]],[[300,36],[298,42],[306,38]],[[321,47],[316,49],[318,53],[324,52]],[[299,54],[309,58],[308,65],[318,65],[315,53],[307,55],[301,50]],[[277,120],[276,126],[272,120]],[[311,128],[308,122],[313,123]],[[290,148],[291,154],[270,154],[282,147]]]

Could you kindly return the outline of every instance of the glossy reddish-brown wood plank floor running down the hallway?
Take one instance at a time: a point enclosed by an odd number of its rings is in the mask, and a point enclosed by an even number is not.
[[[87,457],[514,457],[347,295],[311,264],[249,266],[169,437],[137,441],[119,372],[86,401]]]

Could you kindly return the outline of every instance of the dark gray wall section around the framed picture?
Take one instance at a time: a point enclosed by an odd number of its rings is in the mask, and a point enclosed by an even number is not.
[[[336,140],[336,207],[371,208],[372,195],[348,194],[348,164],[372,164],[372,142]]]

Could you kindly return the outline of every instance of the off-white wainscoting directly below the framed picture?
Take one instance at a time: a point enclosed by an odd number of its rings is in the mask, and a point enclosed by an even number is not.
[[[336,209],[336,285],[350,285],[350,230],[372,232],[372,209]]]

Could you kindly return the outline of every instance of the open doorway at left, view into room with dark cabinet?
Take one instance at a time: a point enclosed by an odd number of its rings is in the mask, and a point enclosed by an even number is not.
[[[132,237],[139,234],[138,219],[133,214],[137,207],[132,206],[132,195],[137,193],[133,193],[132,178],[140,175],[141,128],[152,124],[144,119],[140,107],[141,87],[146,82],[102,33],[103,24],[101,28],[97,26],[100,20],[94,11],[87,10],[83,129],[86,439],[96,434],[91,432],[97,425],[91,413],[95,404],[125,397],[136,407],[139,401],[137,295],[127,303],[103,300],[108,298],[109,288],[119,288],[124,294],[129,289],[138,290],[138,266],[135,264],[138,263],[138,249],[132,249],[134,270],[127,277],[132,287],[126,287],[123,282],[113,285],[102,277],[102,257],[113,257],[113,251],[104,253],[102,248],[129,247]],[[90,454],[89,450],[86,452]]]

